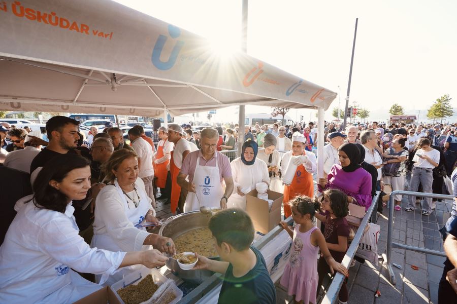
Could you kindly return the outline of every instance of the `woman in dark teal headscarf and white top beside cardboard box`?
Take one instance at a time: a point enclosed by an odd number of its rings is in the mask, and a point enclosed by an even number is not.
[[[257,159],[257,151],[257,143],[254,140],[247,140],[243,143],[241,157],[230,164],[234,188],[233,195],[228,198],[227,208],[246,210],[246,193],[255,189],[258,182],[265,182],[270,186],[267,164]]]

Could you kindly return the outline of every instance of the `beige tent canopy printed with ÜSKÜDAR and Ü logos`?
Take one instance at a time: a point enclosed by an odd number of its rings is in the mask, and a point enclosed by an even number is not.
[[[337,94],[109,0],[0,4],[0,109],[172,116]]]

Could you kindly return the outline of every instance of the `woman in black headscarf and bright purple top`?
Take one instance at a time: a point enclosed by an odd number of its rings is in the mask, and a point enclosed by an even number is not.
[[[319,191],[332,188],[344,192],[349,203],[371,206],[372,179],[370,173],[360,164],[360,152],[353,143],[345,143],[338,149],[338,160],[341,165],[333,165],[327,177],[319,178]]]

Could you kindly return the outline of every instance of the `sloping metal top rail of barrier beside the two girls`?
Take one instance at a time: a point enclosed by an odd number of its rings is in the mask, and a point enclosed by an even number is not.
[[[376,195],[373,198],[373,201],[371,203],[370,208],[368,208],[367,213],[365,214],[364,218],[362,219],[362,222],[360,223],[360,226],[357,229],[357,232],[355,233],[354,239],[351,242],[351,245],[346,251],[346,254],[344,255],[343,260],[341,261],[341,264],[343,264],[344,267],[349,269],[349,265],[352,261],[352,259],[355,256],[355,252],[358,249],[358,244],[360,243],[360,240],[362,239],[365,231],[365,227],[367,226],[368,222],[370,221],[370,218],[372,217],[372,213],[376,214],[377,210],[377,202],[380,196],[380,192],[376,192]],[[373,212],[374,211],[374,212]],[[329,288],[327,289],[327,292],[325,292],[324,297],[320,301],[321,304],[333,304],[335,302],[338,302],[338,293],[340,292],[341,286],[343,285],[343,281],[346,279],[346,277],[340,273],[336,273],[335,276],[333,277],[332,283],[330,284]]]

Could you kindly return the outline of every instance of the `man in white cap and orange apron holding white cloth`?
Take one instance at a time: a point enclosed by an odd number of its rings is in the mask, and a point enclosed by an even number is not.
[[[314,196],[313,174],[316,172],[316,156],[314,153],[305,150],[306,138],[300,132],[292,135],[292,150],[282,157],[281,172],[283,177],[287,171],[287,165],[292,156],[295,160],[292,164],[297,166],[290,185],[284,185],[284,216],[287,218],[292,215],[289,201],[299,195],[308,197]]]

